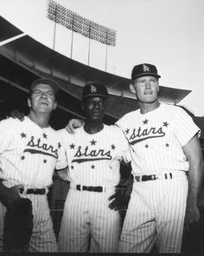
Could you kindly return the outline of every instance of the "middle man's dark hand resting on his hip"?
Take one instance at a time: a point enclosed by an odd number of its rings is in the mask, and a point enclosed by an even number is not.
[[[124,209],[128,206],[129,200],[131,198],[130,194],[125,193],[124,187],[118,187],[116,194],[112,194],[108,200],[112,200],[109,207],[112,210],[118,211]]]

